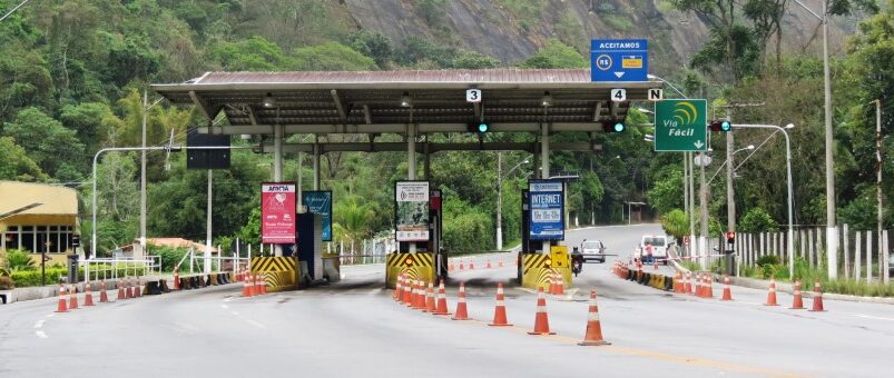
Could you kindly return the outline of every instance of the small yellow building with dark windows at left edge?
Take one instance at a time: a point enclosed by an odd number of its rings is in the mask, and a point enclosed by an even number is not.
[[[78,226],[75,189],[0,181],[0,250],[70,255]]]

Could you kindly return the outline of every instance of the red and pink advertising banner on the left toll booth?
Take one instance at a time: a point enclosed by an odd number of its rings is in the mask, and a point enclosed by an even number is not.
[[[261,185],[261,242],[295,243],[295,189],[294,182]]]

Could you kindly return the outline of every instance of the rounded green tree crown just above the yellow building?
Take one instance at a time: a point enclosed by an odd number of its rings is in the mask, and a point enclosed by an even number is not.
[[[26,108],[16,115],[16,120],[6,123],[3,136],[11,137],[21,146],[31,160],[50,176],[71,159],[73,167],[81,168],[83,145],[59,121],[38,108]]]

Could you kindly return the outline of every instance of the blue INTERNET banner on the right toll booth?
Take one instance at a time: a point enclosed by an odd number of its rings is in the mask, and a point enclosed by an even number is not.
[[[528,185],[531,240],[564,240],[562,181],[531,180]]]

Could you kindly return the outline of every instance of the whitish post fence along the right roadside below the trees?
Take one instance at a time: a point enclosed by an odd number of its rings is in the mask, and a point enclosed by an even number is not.
[[[837,251],[838,273],[844,278],[888,280],[887,258],[891,255],[888,230],[881,238],[877,230],[852,230],[848,225],[839,227],[841,241]],[[736,237],[736,255],[741,266],[755,266],[764,256],[776,256],[783,263],[788,261],[787,232],[739,233]],[[827,266],[826,228],[805,227],[794,232],[795,257],[804,259],[813,268]]]

